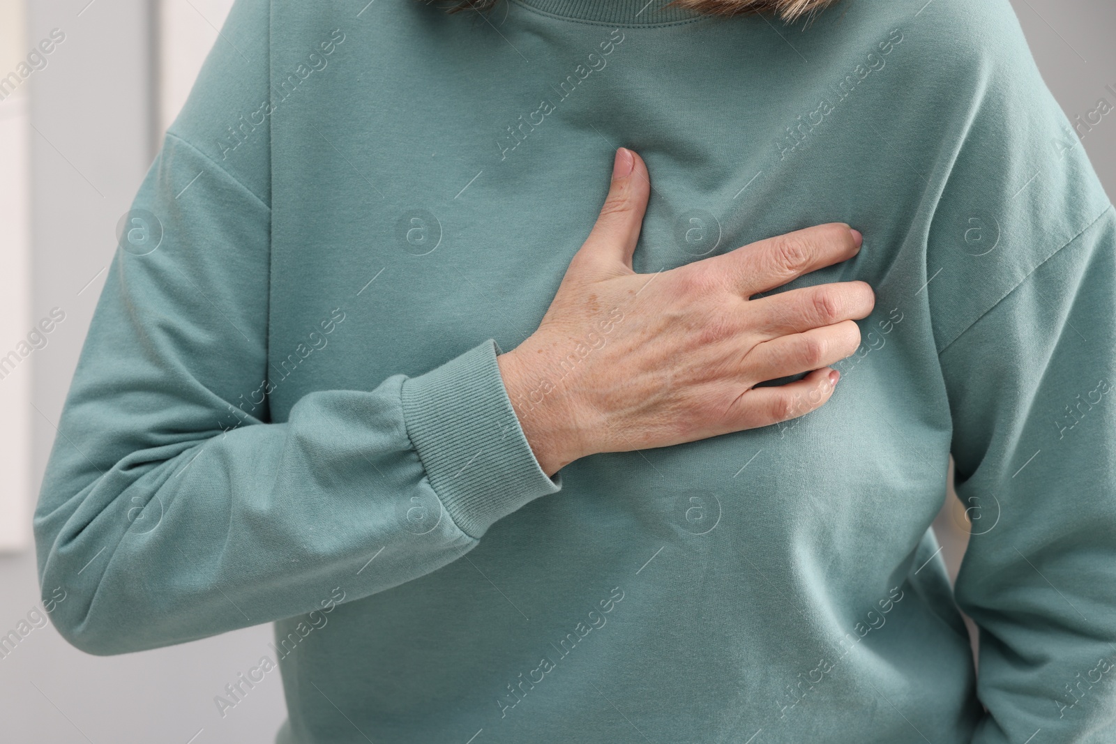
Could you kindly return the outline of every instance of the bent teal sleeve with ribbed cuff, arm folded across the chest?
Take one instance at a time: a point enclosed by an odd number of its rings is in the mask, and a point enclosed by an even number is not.
[[[424,375],[309,393],[287,421],[263,396],[243,405],[269,377],[268,148],[247,141],[234,177],[187,137],[251,81],[241,56],[267,96],[266,10],[237,3],[230,48],[211,54],[147,173],[57,425],[39,577],[59,632],[90,654],[302,615],[335,587],[349,600],[386,590],[560,487],[492,340]]]

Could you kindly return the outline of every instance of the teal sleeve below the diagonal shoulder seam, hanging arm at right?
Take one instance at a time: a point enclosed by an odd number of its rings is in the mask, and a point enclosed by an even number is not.
[[[1039,265],[941,355],[972,537],[974,744],[1116,736],[1116,216]]]

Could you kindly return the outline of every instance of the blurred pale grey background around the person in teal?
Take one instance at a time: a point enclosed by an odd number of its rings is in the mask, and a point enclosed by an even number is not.
[[[1071,120],[1116,106],[1116,3],[1012,3]],[[0,0],[0,639],[31,628],[0,645],[3,742],[269,743],[286,715],[277,676],[224,717],[213,703],[267,650],[270,626],[99,658],[29,619],[41,607],[30,515],[117,223],[231,4]],[[1079,134],[1112,197],[1116,117]],[[52,311],[62,320],[42,332]],[[951,494],[934,529],[955,574],[983,528]]]

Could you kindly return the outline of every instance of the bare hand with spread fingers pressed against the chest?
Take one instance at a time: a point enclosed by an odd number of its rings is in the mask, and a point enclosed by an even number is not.
[[[694,442],[768,426],[822,406],[860,345],[854,319],[875,303],[863,281],[750,299],[857,254],[830,223],[761,240],[657,274],[632,254],[651,182],[616,152],[612,186],[531,336],[497,357],[539,465],[552,475],[598,452]],[[809,371],[778,386],[758,383]]]

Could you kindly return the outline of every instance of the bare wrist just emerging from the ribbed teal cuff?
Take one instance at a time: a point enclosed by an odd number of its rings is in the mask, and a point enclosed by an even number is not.
[[[552,384],[530,366],[520,346],[497,357],[500,377],[519,419],[527,443],[542,472],[552,476],[569,463],[584,457],[576,417],[569,415]],[[541,356],[541,355],[537,355]]]

